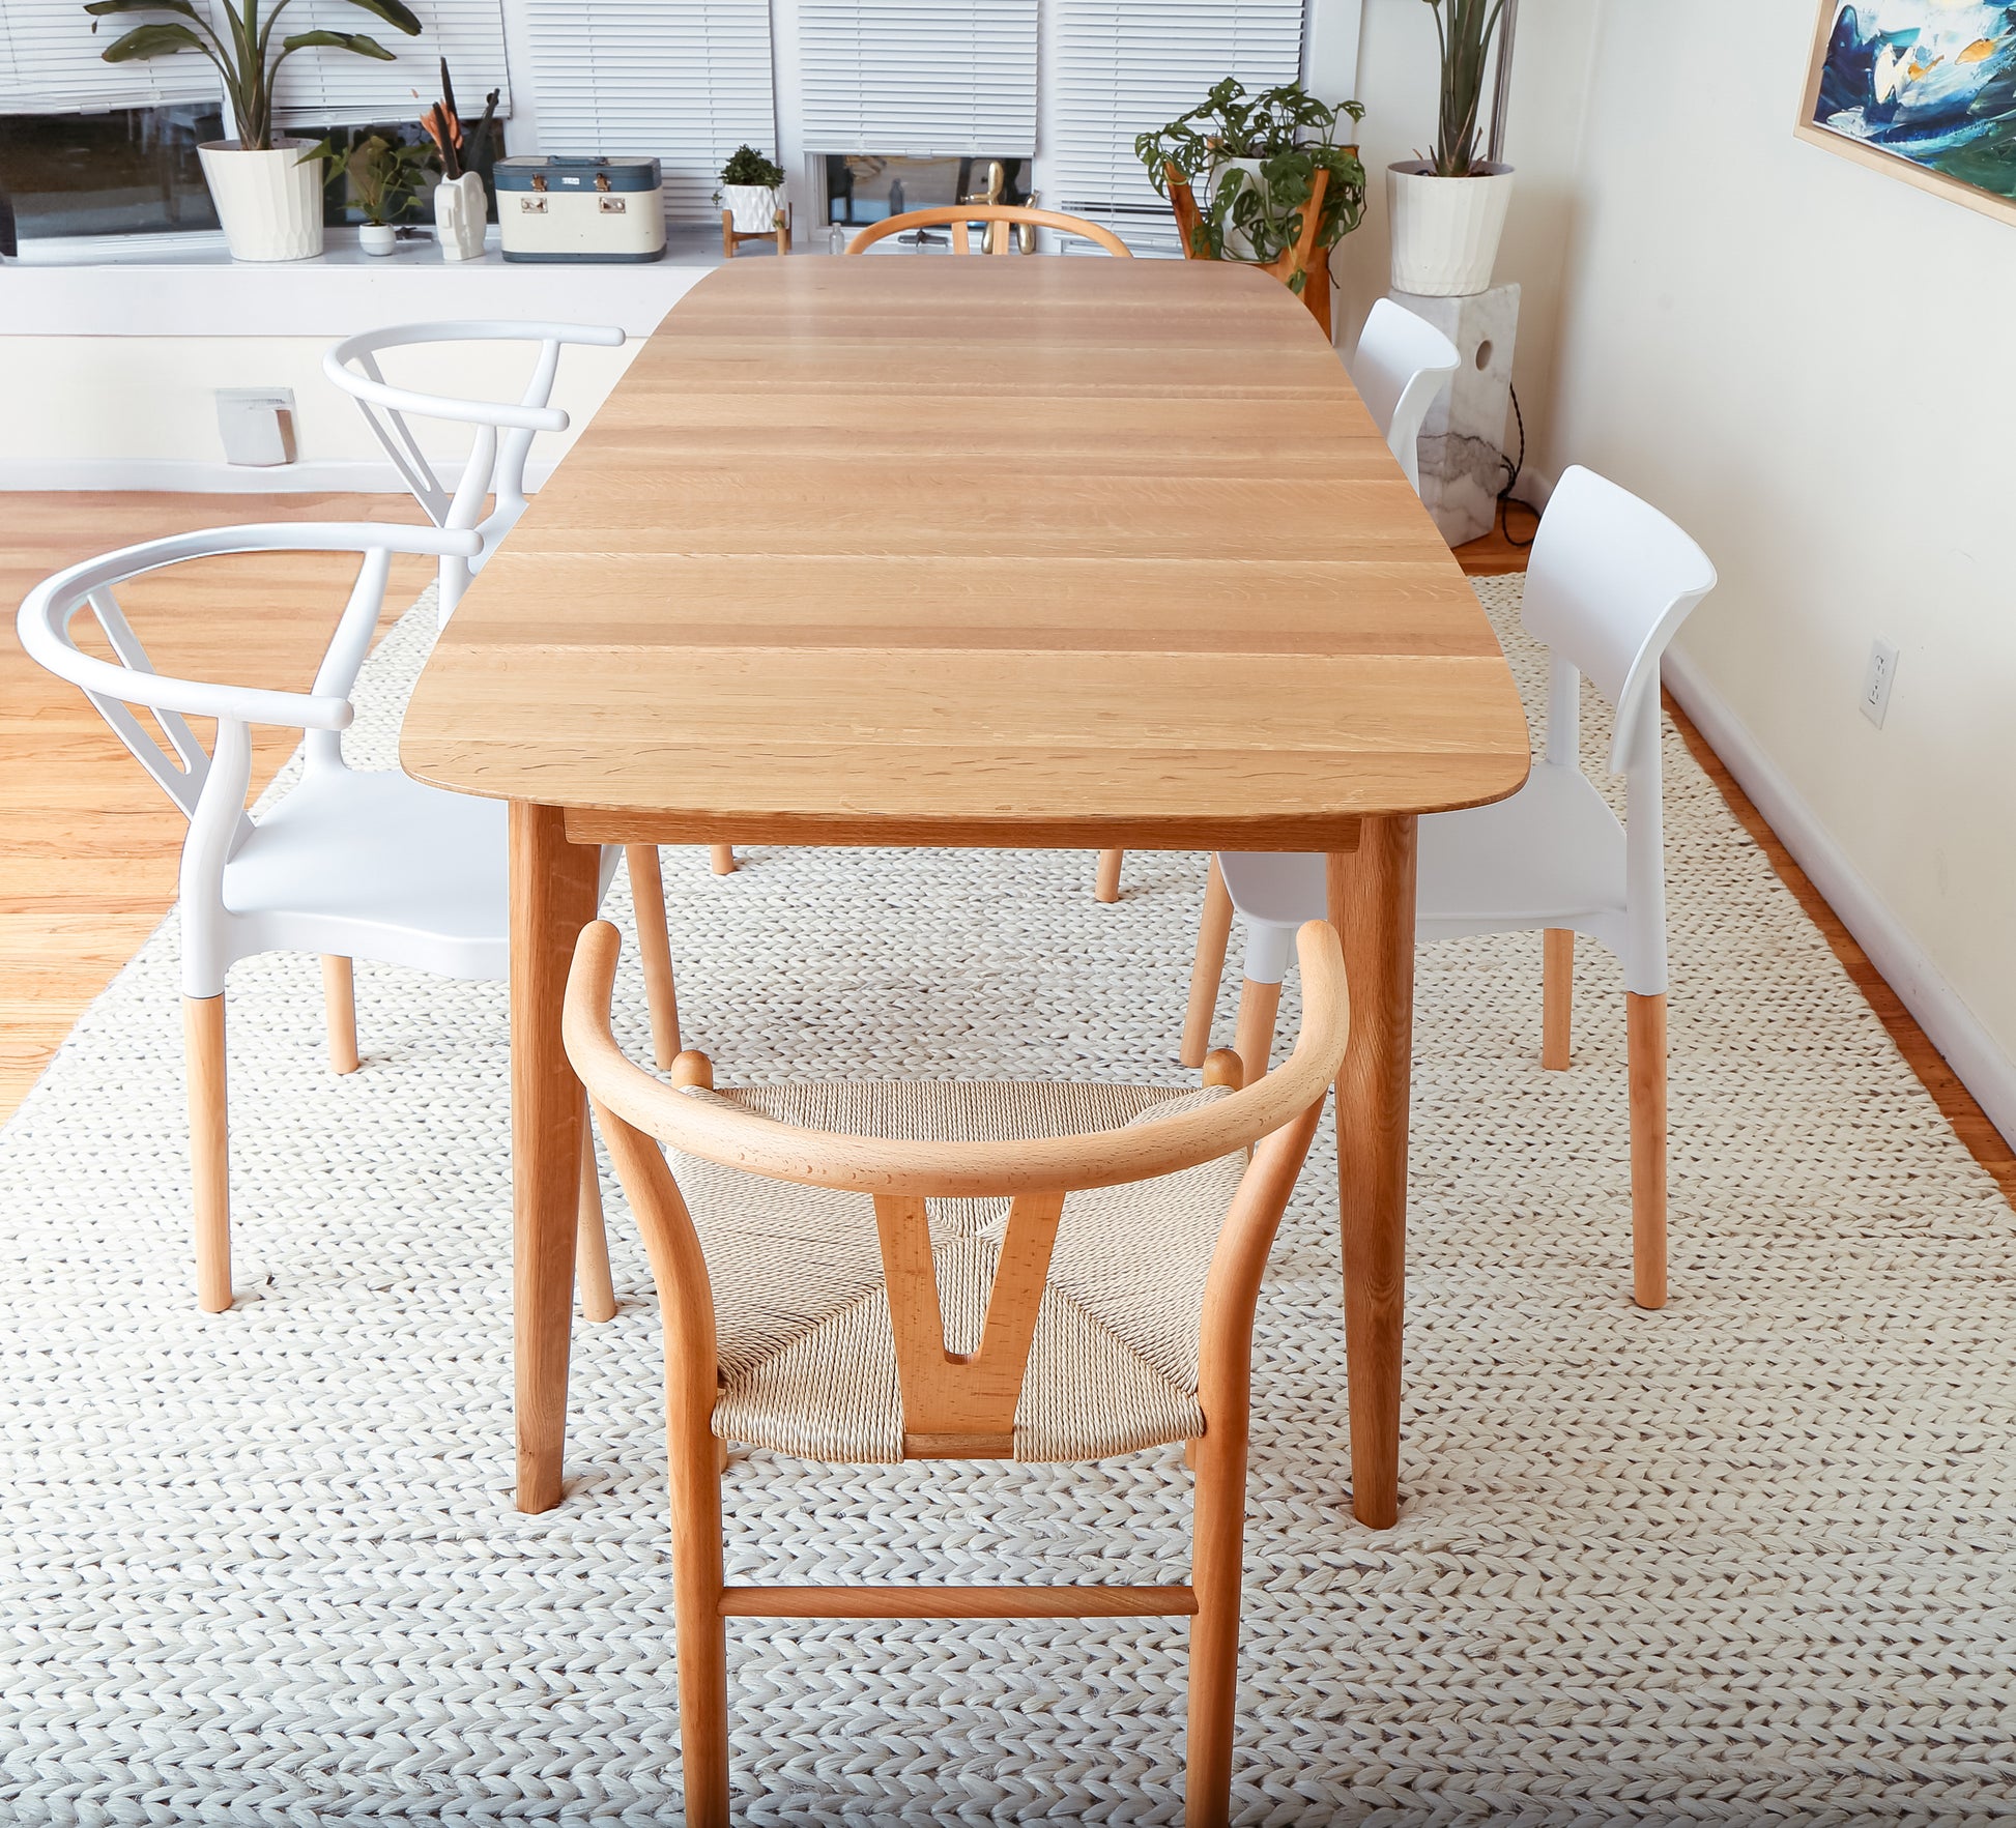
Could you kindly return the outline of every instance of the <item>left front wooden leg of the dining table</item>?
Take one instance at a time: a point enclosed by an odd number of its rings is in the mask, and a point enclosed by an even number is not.
[[[518,1510],[560,1501],[575,1318],[581,1080],[560,1044],[575,937],[595,919],[601,851],[569,844],[554,806],[510,808],[510,1157]]]

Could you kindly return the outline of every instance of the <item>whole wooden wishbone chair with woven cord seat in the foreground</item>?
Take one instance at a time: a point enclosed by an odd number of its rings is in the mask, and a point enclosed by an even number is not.
[[[1214,1054],[1202,1092],[891,1080],[718,1094],[704,1054],[681,1054],[667,1086],[609,1032],[617,949],[607,923],[581,935],[564,1034],[663,1314],[685,1820],[728,1822],[728,1618],[1173,1614],[1191,1620],[1187,1820],[1222,1824],[1254,1302],[1345,1052],[1337,933],[1300,933],[1292,1058],[1240,1090],[1238,1060]],[[843,1463],[1187,1441],[1189,1582],[732,1586],[730,1439]]]

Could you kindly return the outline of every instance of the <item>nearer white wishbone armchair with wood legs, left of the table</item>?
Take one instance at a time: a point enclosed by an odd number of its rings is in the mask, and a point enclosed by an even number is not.
[[[230,526],[127,546],[73,564],[22,603],[22,647],[81,687],[113,734],[190,820],[181,848],[181,994],[190,1068],[190,1163],[196,1181],[196,1286],[206,1312],[232,1304],[230,1153],[224,1082],[224,980],[262,951],[323,955],[329,1056],[357,1070],[353,959],[448,977],[508,975],[510,901],[504,804],[448,794],[403,774],[343,762],[351,685],[385,603],[393,552],[476,550],[476,534],[405,526]],[[355,552],[357,582],[308,691],[266,691],[155,673],[117,586],[228,552]],[[113,659],[85,653],[71,623],[89,611]],[[151,713],[159,740],[133,713]],[[214,717],[206,754],[185,720]],[[300,782],[256,822],[246,812],[252,726],[304,732]],[[603,853],[603,887],[615,851]],[[649,935],[651,923],[641,921]],[[663,925],[659,925],[663,937]],[[669,951],[667,951],[669,959]],[[677,1010],[653,1008],[653,1038],[677,1052]],[[671,1058],[667,1054],[667,1058]],[[583,1151],[581,1288],[591,1320],[615,1314],[603,1250],[593,1145]]]

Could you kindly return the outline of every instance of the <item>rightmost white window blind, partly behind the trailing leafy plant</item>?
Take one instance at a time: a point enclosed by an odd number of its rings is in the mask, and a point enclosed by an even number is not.
[[[1224,77],[1248,89],[1302,69],[1302,0],[1052,0],[1042,204],[1113,228],[1137,254],[1179,254],[1135,135],[1193,109]]]

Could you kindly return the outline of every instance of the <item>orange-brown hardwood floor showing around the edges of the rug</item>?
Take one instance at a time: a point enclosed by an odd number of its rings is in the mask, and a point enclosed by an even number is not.
[[[0,603],[48,572],[133,540],[240,520],[407,520],[403,496],[8,494]],[[1514,522],[1522,538],[1524,520]],[[1526,568],[1502,534],[1458,550],[1472,576]],[[425,589],[431,566],[393,562],[387,613]],[[306,687],[349,584],[341,556],[248,556],[181,566],[123,593],[161,671]],[[2016,1151],[1911,1020],[1806,873],[1764,822],[1687,717],[1673,720],[1744,830],[1798,897],[1960,1141],[2016,1201]],[[254,782],[264,786],[294,732],[262,730]],[[85,1006],[113,980],[175,899],[183,820],[75,687],[0,637],[0,1121],[34,1084]]]

